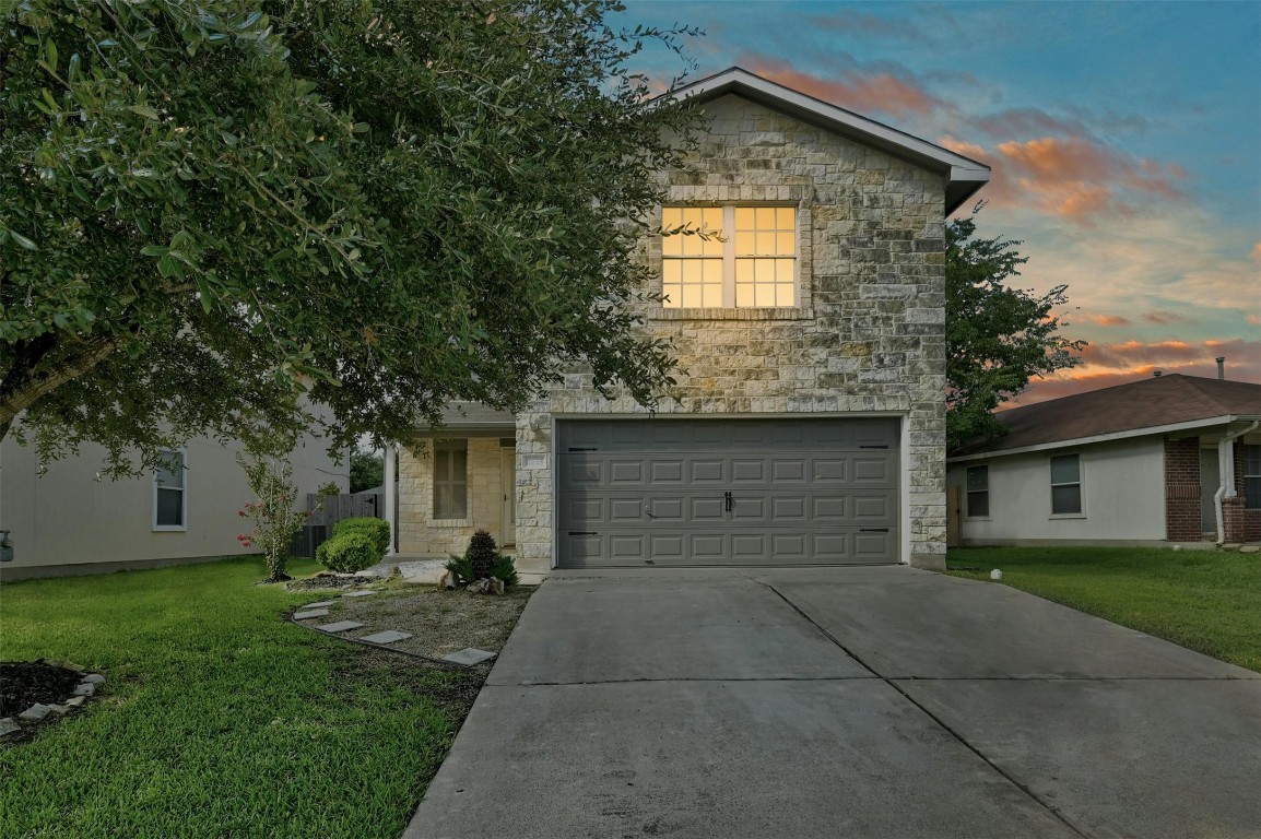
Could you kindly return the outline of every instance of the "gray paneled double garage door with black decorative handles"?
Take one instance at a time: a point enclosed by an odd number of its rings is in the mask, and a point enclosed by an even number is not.
[[[898,421],[557,423],[562,568],[898,561]]]

